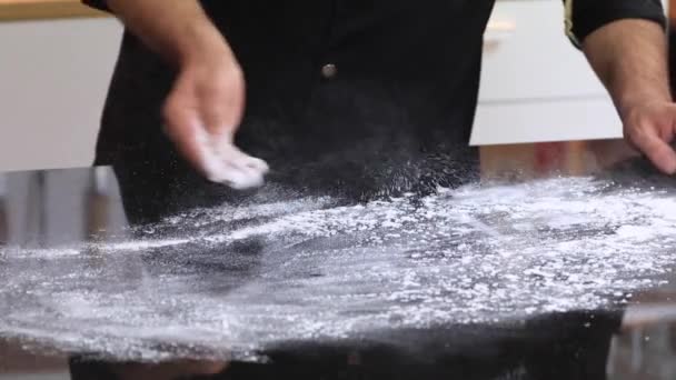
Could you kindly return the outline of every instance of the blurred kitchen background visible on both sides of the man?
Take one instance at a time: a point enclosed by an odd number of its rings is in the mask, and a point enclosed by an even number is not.
[[[121,32],[78,0],[0,0],[0,170],[92,161]],[[564,34],[561,1],[498,0],[471,136],[485,174],[584,173],[625,154],[620,137],[610,99]]]

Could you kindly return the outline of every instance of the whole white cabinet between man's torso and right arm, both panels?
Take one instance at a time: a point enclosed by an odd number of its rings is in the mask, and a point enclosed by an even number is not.
[[[609,97],[564,30],[560,0],[496,2],[473,146],[622,138]]]

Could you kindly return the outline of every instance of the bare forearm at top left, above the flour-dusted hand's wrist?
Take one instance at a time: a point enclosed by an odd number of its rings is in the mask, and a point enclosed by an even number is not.
[[[143,42],[176,64],[230,54],[197,0],[108,0],[110,10]]]

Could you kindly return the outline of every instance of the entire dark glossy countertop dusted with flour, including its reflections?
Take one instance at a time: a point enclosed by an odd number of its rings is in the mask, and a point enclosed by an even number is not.
[[[676,376],[676,199],[645,167],[369,204],[212,192],[1,174],[0,379]]]

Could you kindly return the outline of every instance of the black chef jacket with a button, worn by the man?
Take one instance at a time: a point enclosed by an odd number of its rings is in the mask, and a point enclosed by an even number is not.
[[[202,0],[247,81],[237,144],[270,163],[271,182],[297,190],[371,198],[471,179],[468,137],[494,1]],[[659,0],[567,0],[565,9],[575,42],[622,18],[664,22]],[[125,33],[96,163],[163,178],[180,198],[199,180],[161,133],[175,76]]]

